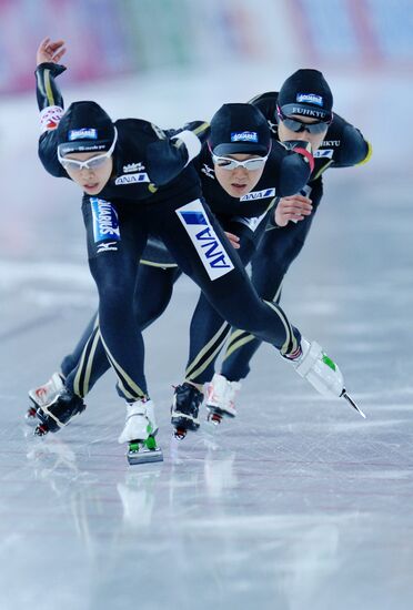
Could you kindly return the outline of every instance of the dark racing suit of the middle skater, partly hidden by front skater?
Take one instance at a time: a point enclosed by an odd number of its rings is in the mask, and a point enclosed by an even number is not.
[[[310,175],[311,164],[309,166],[308,161],[305,142],[293,142],[286,145],[274,143],[260,181],[252,192],[240,199],[229,195],[215,179],[211,152],[206,143],[200,156],[193,161],[210,209],[224,231],[240,237],[236,255],[240,256],[243,265],[249,263],[255,252],[256,244],[265,231],[268,217],[273,214],[276,196],[295,193],[305,180],[304,176]],[[311,155],[310,163],[313,163]],[[163,242],[154,235],[150,236],[141,263],[135,293],[135,316],[137,324],[143,331],[167,308],[172,296],[173,284],[181,275],[181,270]],[[239,306],[242,304],[240,303]],[[283,313],[280,309],[275,311],[288,328],[289,322]],[[190,326],[187,379],[198,384],[210,379],[214,362],[230,329],[231,325],[201,292]],[[109,366],[99,343],[89,342],[81,366],[77,368],[73,379],[71,368],[77,365],[79,352],[84,345],[82,342],[88,337],[88,332],[89,329],[72,357],[67,357],[62,365],[62,372],[68,377],[67,383],[69,385],[73,383],[74,392],[81,396],[85,396]]]

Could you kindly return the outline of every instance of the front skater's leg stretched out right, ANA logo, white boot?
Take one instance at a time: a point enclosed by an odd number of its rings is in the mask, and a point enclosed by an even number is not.
[[[180,238],[170,241],[167,231],[161,236],[182,271],[199,284],[219,314],[233,326],[245,328],[271,343],[282,356],[295,363],[299,374],[319,392],[323,387],[330,396],[342,396],[344,389],[339,367],[316,344],[315,349],[309,342],[302,346],[300,332],[290,324],[284,312],[258,296],[240,258],[208,206],[197,201],[177,210],[175,214],[181,217],[181,226],[173,215],[164,214],[163,221]],[[190,226],[187,226],[187,221]],[[162,228],[161,225],[160,232]],[[188,255],[193,246],[198,258]],[[205,250],[202,251],[202,247]],[[234,324],[234,321],[238,322]],[[320,380],[319,386],[315,379]],[[341,394],[338,394],[339,386]]]

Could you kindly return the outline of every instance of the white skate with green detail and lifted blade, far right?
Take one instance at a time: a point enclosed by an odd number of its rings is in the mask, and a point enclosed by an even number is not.
[[[295,358],[288,358],[301,377],[304,377],[320,394],[334,398],[345,398],[353,409],[365,419],[364,413],[349,396],[343,375],[338,365],[329,358],[316,342],[308,342],[302,337],[301,353]]]

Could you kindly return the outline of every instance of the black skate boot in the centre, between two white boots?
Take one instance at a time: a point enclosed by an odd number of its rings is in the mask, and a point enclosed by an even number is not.
[[[175,428],[174,436],[182,440],[188,430],[198,430],[200,420],[198,411],[202,405],[203,394],[192,384],[184,382],[175,387],[171,407],[171,424]]]

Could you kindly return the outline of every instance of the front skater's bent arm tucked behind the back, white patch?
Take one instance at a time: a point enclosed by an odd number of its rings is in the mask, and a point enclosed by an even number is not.
[[[200,153],[208,136],[209,123],[193,121],[174,135],[152,125],[158,139],[148,146],[148,173],[157,185],[167,184],[177,177]]]

